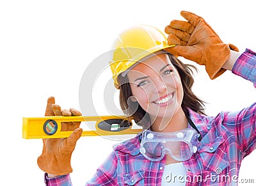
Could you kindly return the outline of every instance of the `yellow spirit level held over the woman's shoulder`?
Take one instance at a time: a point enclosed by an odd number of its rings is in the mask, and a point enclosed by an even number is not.
[[[95,122],[95,130],[83,130],[82,136],[112,136],[138,134],[141,128],[133,128],[124,116],[44,116],[23,118],[22,137],[24,139],[69,137],[72,131],[61,131],[61,122]]]

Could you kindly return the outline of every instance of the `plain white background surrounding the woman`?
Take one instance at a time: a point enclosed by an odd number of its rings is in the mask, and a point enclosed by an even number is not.
[[[86,66],[109,50],[117,33],[134,24],[164,27],[181,10],[204,17],[221,40],[241,52],[256,50],[252,1],[1,1],[0,185],[44,185],[36,159],[41,139],[22,139],[22,117],[44,116],[47,98],[79,109]],[[182,58],[180,58],[182,59]],[[185,59],[182,61],[190,63]],[[253,84],[230,72],[210,81],[199,66],[194,91],[207,114],[236,111],[255,102]],[[105,114],[105,113],[102,113]],[[72,155],[74,185],[84,185],[117,143],[82,137]],[[256,153],[243,160],[240,178],[254,178]],[[250,185],[250,184],[241,184]]]

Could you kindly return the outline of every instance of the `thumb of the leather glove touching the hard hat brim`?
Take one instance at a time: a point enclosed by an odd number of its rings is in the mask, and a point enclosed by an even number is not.
[[[174,56],[182,56],[183,58],[197,63],[202,59],[202,52],[199,49],[196,49],[196,47],[176,45],[175,47],[170,47],[164,50],[170,52]]]

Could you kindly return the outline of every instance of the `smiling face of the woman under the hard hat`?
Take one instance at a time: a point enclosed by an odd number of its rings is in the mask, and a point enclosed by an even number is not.
[[[150,118],[170,118],[181,108],[182,83],[167,54],[140,62],[127,75],[132,95],[136,97],[132,100],[138,101]]]

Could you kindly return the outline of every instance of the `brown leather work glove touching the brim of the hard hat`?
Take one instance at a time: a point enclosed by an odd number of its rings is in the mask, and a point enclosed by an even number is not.
[[[170,25],[165,27],[168,44],[176,46],[164,50],[205,65],[211,79],[223,74],[226,70],[221,67],[230,57],[230,49],[238,52],[237,47],[223,43],[211,26],[195,13],[182,11],[180,15],[188,22],[172,20]]]

